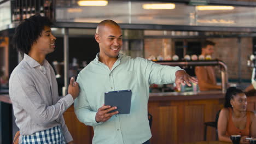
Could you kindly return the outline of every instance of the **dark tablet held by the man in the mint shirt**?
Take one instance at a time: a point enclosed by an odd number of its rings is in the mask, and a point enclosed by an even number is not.
[[[131,89],[124,91],[112,91],[105,92],[105,105],[117,106],[117,110],[113,110],[110,112],[118,111],[118,114],[128,114],[131,109]],[[108,113],[110,113],[108,112]]]

